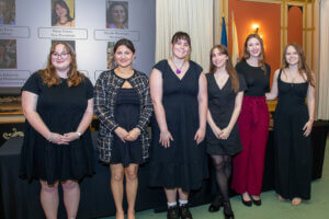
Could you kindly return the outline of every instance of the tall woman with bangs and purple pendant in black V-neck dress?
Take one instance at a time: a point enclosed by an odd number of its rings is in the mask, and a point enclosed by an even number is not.
[[[200,188],[207,176],[204,145],[207,111],[206,78],[194,61],[186,33],[171,41],[172,57],[159,61],[150,74],[156,113],[152,124],[150,185],[163,186],[169,219],[192,218],[188,207],[191,189]]]

